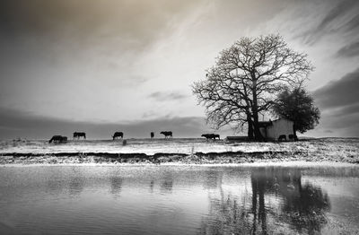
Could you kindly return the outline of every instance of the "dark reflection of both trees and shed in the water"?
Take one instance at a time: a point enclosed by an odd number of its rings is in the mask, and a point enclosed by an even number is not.
[[[211,198],[210,214],[202,222],[200,234],[271,234],[290,232],[285,226],[298,232],[320,232],[327,220],[328,195],[320,187],[302,185],[300,170],[283,168],[253,169],[250,175],[251,206],[238,204],[234,196]],[[281,198],[280,205],[266,204],[267,196]],[[237,197],[238,198],[238,197]],[[275,208],[276,207],[276,208]],[[275,225],[276,224],[276,225]]]

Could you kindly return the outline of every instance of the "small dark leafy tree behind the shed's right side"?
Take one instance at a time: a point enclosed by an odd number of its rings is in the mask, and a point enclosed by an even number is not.
[[[293,133],[304,133],[319,124],[320,109],[314,106],[311,95],[301,87],[282,91],[273,105],[273,112],[277,117],[292,120]]]

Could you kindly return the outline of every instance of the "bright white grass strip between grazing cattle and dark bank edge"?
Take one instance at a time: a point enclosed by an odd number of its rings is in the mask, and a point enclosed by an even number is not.
[[[300,146],[291,144],[269,143],[236,143],[224,141],[206,141],[205,139],[127,139],[123,145],[121,140],[71,140],[66,144],[48,144],[48,141],[3,141],[0,154],[17,153],[58,153],[58,152],[108,152],[108,153],[194,153],[194,152],[267,152],[291,148],[302,150]],[[293,144],[292,144],[293,145]]]

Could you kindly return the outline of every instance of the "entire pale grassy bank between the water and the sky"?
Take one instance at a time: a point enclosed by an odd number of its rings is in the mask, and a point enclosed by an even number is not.
[[[248,162],[359,163],[359,140],[325,138],[291,143],[227,143],[203,139],[2,142],[0,164],[242,164]]]

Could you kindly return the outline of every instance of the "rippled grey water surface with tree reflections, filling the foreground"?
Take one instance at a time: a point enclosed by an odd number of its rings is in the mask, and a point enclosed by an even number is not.
[[[0,231],[355,234],[359,167],[1,167]]]

